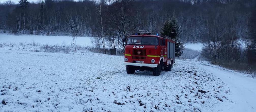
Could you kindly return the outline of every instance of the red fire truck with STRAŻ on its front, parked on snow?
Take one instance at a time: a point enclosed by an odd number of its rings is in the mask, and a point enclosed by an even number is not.
[[[175,42],[165,35],[139,31],[143,32],[127,38],[124,54],[127,74],[148,70],[159,76],[161,70],[171,71],[175,63]]]

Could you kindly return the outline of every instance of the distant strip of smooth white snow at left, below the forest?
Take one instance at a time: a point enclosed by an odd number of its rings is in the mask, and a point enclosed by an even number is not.
[[[77,37],[77,45],[80,46],[92,46],[92,37]],[[49,44],[49,45],[70,45],[73,43],[71,36],[42,36],[42,35],[13,35],[0,33],[0,43],[36,43],[36,44]]]

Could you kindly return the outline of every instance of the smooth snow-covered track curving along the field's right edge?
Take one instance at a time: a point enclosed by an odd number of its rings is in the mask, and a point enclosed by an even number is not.
[[[223,69],[216,65],[207,65],[197,62],[199,67],[209,73],[220,77],[228,85],[230,90],[229,98],[224,104],[216,105],[212,111],[223,112],[253,112],[256,111],[256,80],[235,71]]]

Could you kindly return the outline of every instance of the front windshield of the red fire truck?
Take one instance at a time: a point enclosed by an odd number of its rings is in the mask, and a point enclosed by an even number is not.
[[[157,37],[128,37],[127,44],[158,45]]]

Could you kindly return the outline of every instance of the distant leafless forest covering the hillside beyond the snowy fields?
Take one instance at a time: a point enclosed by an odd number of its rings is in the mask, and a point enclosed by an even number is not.
[[[24,1],[22,1],[24,2]],[[0,4],[0,29],[11,33],[51,34],[71,32],[70,24],[79,29],[78,35],[104,36],[136,33],[145,29],[161,32],[166,20],[176,16],[182,33],[180,40],[201,42],[207,38],[211,24],[233,31],[238,38],[248,36],[254,0],[105,0],[79,1],[45,0],[38,3]],[[101,8],[101,10],[98,10]],[[121,22],[123,21],[123,23]],[[102,23],[102,25],[101,25]],[[120,25],[120,24],[123,25]],[[124,27],[124,28],[121,28]],[[135,29],[135,30],[134,30]],[[122,31],[125,30],[125,31]]]

